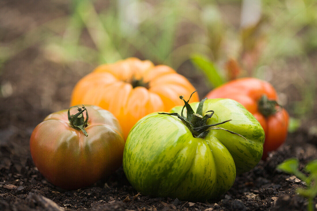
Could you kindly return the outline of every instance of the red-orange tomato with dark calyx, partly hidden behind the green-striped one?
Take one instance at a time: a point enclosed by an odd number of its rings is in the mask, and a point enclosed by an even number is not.
[[[288,112],[278,106],[277,93],[267,81],[256,78],[232,80],[210,91],[206,97],[234,99],[255,116],[266,136],[262,159],[284,143],[288,131]]]

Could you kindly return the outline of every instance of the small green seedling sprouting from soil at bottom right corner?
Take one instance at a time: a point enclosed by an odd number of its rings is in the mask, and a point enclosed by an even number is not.
[[[307,198],[308,205],[307,210],[314,210],[314,198],[317,195],[317,159],[309,162],[304,170],[310,175],[307,177],[301,171],[298,170],[299,162],[296,158],[290,158],[285,160],[283,163],[279,164],[276,168],[288,173],[293,174],[302,181],[306,182],[306,188],[297,189],[297,193],[305,198]]]

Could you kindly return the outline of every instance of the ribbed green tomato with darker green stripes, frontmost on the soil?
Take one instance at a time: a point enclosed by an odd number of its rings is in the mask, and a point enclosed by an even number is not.
[[[195,127],[203,135],[186,126],[187,120],[196,124],[189,117],[192,111],[187,118],[176,116],[181,106],[171,115],[152,113],[134,125],[126,140],[123,169],[141,194],[184,201],[218,198],[231,188],[236,173],[259,162],[265,135],[256,118],[235,100],[204,100],[190,104],[193,110],[198,108],[198,115],[193,115],[199,121],[207,119],[205,126],[199,122],[201,127]],[[226,120],[231,121],[223,123]]]

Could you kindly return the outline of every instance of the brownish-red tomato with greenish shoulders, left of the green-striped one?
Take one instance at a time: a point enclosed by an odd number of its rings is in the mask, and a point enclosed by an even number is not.
[[[118,120],[98,106],[87,105],[86,109],[87,137],[70,126],[68,109],[47,116],[30,137],[35,166],[49,182],[63,189],[89,186],[122,163],[125,142]],[[70,111],[74,113],[75,108]]]

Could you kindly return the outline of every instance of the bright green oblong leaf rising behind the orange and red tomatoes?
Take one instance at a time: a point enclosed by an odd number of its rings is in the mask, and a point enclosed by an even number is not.
[[[224,80],[219,74],[219,70],[217,70],[213,62],[205,56],[194,54],[191,56],[191,62],[198,69],[202,70],[211,86],[217,87],[224,83]]]

